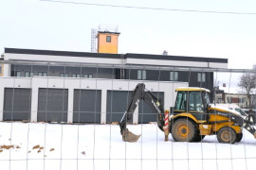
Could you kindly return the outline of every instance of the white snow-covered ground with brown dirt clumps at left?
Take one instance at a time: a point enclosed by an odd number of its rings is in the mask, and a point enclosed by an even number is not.
[[[215,136],[202,143],[176,143],[171,136],[170,142],[164,142],[155,124],[128,127],[142,134],[137,143],[122,142],[117,125],[0,123],[0,169],[256,168],[256,140],[247,131],[239,144],[219,144]]]

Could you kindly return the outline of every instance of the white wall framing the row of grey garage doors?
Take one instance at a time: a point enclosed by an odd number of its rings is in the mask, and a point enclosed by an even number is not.
[[[73,122],[73,96],[75,89],[101,90],[101,124],[106,122],[106,100],[107,91],[133,91],[138,80],[119,79],[84,79],[84,78],[62,78],[62,77],[0,77],[0,121],[3,121],[4,90],[5,88],[29,88],[31,89],[31,122],[37,121],[38,91],[39,88],[56,88],[68,90],[67,122]],[[185,82],[171,81],[143,81],[146,89],[152,92],[164,92],[164,109],[170,110],[174,106],[177,87],[186,87]],[[135,111],[137,113],[137,110]],[[138,115],[134,115],[133,123],[137,123]]]

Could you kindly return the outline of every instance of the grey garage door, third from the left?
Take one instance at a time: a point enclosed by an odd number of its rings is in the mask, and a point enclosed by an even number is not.
[[[101,91],[75,90],[73,122],[101,123]]]

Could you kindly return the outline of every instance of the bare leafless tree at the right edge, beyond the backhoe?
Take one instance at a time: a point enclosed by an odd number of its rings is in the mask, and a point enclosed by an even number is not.
[[[253,65],[253,69],[256,70],[256,64]],[[247,94],[247,108],[252,107],[250,94],[255,93],[256,88],[256,74],[245,73],[240,77],[238,86],[241,87],[242,92]]]

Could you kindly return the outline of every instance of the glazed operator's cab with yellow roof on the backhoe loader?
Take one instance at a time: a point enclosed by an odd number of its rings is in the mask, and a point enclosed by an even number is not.
[[[189,112],[197,120],[208,119],[210,105],[210,91],[203,88],[178,88],[176,89],[174,114]]]

